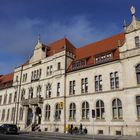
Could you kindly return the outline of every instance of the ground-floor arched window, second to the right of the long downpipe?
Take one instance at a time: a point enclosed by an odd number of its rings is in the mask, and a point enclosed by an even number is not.
[[[89,119],[89,103],[86,101],[82,103],[82,119]]]

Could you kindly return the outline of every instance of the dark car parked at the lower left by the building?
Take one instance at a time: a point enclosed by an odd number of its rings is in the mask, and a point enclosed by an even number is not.
[[[17,134],[18,129],[15,124],[2,124],[0,126],[0,133],[3,134]]]

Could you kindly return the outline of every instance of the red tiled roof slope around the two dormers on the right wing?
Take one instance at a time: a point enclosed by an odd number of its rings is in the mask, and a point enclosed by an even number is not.
[[[76,58],[72,62],[75,63],[78,60],[86,59],[86,66],[91,66],[95,64],[95,58],[96,56],[100,56],[102,54],[112,52],[113,53],[113,60],[119,59],[119,45],[122,45],[125,41],[125,35],[124,33],[119,33],[117,35],[114,35],[112,37],[103,39],[101,41],[97,41],[94,43],[91,43],[89,45],[86,45],[81,48],[76,49]],[[68,71],[72,70],[72,64],[68,68]]]

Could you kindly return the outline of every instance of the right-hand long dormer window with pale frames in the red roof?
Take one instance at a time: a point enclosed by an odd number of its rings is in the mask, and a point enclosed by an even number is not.
[[[104,63],[104,62],[107,62],[107,61],[110,61],[110,60],[112,60],[112,53],[108,53],[108,54],[104,54],[104,55],[101,55],[101,56],[97,56],[95,58],[96,64]]]

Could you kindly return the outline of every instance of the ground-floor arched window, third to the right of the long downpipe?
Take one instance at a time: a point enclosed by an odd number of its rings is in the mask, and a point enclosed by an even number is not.
[[[96,102],[96,119],[104,119],[104,102],[102,100],[98,100]]]

